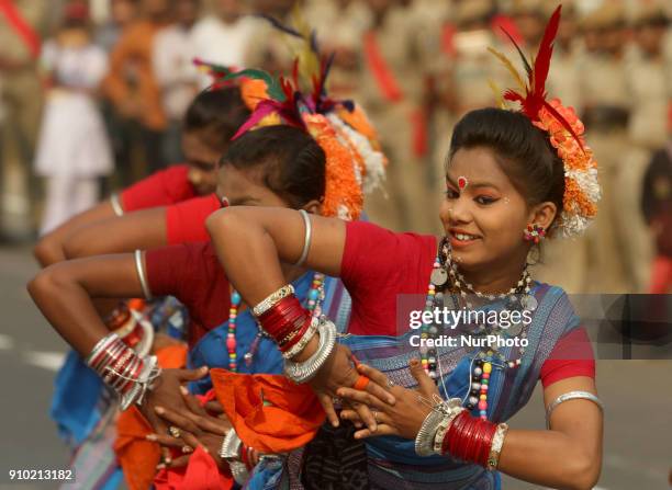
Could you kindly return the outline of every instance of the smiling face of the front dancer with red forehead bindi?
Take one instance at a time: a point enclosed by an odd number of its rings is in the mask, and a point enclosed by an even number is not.
[[[452,257],[464,271],[524,261],[529,242],[523,230],[553,216],[555,209],[528,206],[488,147],[459,149],[447,166],[440,218]]]

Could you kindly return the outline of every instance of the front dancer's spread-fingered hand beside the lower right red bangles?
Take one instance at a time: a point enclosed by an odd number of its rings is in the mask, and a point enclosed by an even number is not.
[[[372,432],[367,424],[367,429],[355,433],[356,438],[378,435],[400,435],[405,438],[415,438],[425,418],[432,411],[434,396],[438,396],[439,391],[432,378],[423,369],[419,361],[412,360],[408,365],[411,374],[418,383],[416,389],[395,386],[383,373],[365,364],[357,366],[357,371],[370,379],[369,386],[376,385],[394,396],[396,399],[394,404],[387,403],[384,399],[373,395],[369,389],[362,391],[354,388],[339,388],[337,390],[338,396],[350,403],[368,406],[378,422],[378,431]],[[362,422],[359,411],[356,410],[343,410],[340,417],[356,424]]]

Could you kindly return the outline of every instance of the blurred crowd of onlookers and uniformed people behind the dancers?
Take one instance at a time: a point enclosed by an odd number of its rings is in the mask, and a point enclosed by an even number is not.
[[[440,233],[451,126],[514,84],[486,48],[519,67],[501,27],[536,52],[555,0],[0,0],[2,240],[32,239],[180,162],[182,116],[210,82],[192,59],[288,72],[287,39],[248,14],[291,24],[296,3],[336,53],[332,94],[366,109],[388,153],[370,219]],[[549,242],[536,276],[570,293],[664,293],[672,2],[562,3],[548,91],[585,123],[603,200],[584,238]]]

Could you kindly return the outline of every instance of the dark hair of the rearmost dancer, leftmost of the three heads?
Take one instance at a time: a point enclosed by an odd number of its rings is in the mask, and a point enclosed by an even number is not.
[[[203,91],[187,110],[184,133],[199,133],[206,145],[223,152],[249,114],[238,87]]]

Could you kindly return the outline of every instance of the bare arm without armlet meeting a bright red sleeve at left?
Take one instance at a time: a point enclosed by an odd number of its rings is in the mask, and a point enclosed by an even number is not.
[[[79,259],[153,249],[166,243],[166,208],[154,207],[78,228],[67,237],[63,249],[66,259]]]

